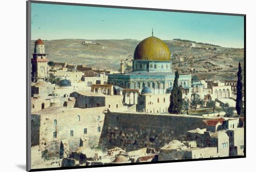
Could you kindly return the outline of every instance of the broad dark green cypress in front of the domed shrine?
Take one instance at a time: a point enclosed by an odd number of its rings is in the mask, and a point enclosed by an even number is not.
[[[182,110],[182,87],[178,86],[179,72],[175,72],[175,79],[173,89],[170,95],[170,105],[168,107],[169,113],[180,113]]]

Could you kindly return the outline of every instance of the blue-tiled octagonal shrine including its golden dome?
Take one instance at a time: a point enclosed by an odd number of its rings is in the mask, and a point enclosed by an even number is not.
[[[109,74],[108,84],[140,91],[148,86],[153,94],[164,94],[173,86],[175,78],[170,55],[168,46],[152,35],[142,40],[135,48],[133,71]],[[179,83],[183,88],[189,89],[191,75],[180,74]]]

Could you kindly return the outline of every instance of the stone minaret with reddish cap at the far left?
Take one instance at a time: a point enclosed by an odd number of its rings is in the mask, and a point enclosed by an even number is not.
[[[32,65],[32,82],[37,82],[40,80],[47,80],[48,70],[47,70],[47,54],[44,51],[44,42],[40,39],[35,41],[34,53],[32,53],[33,58],[31,59]]]

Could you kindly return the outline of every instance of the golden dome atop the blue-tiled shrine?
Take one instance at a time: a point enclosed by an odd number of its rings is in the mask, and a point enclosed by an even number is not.
[[[134,60],[170,61],[168,46],[154,36],[142,40],[135,48]]]

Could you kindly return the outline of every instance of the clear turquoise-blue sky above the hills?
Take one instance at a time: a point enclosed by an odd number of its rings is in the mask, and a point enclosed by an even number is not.
[[[243,17],[32,3],[32,39],[136,39],[154,36],[242,48]]]

